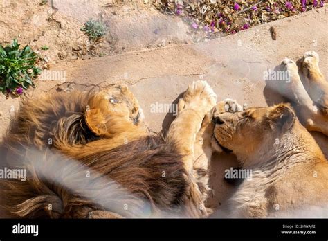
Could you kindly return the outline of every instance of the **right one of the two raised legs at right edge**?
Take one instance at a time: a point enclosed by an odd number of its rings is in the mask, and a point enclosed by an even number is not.
[[[304,53],[301,60],[300,72],[309,96],[320,110],[328,116],[328,82],[319,69],[319,55],[314,51]]]

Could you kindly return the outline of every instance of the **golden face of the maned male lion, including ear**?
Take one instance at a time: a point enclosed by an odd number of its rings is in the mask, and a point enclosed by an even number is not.
[[[85,112],[86,124],[92,132],[99,135],[113,132],[118,125],[138,125],[143,117],[143,111],[134,94],[126,85],[118,84],[93,93]]]

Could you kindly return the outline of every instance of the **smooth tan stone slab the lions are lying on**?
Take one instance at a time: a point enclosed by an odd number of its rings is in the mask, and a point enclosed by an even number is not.
[[[154,113],[152,105],[170,105],[193,80],[207,80],[219,100],[235,98],[253,107],[281,101],[266,87],[264,71],[273,69],[284,57],[298,60],[306,51],[317,51],[320,68],[327,78],[326,12],[327,6],[197,45],[165,46],[85,61],[60,62],[52,70],[66,71],[66,81],[75,82],[80,87],[128,84],[143,107],[147,126],[160,132],[167,128],[174,116],[165,111]],[[271,26],[276,28],[276,41],[271,39]],[[121,42],[125,41],[121,39]],[[51,88],[55,91],[56,84],[60,83],[39,82],[33,96]],[[8,108],[12,103],[17,104],[18,99],[4,100],[1,97],[1,102],[4,103],[0,109],[3,112],[0,120],[3,133],[10,120]],[[328,157],[328,138],[318,133],[313,133],[313,136]],[[237,166],[233,155],[220,154],[212,160],[210,183],[215,191],[210,195],[209,203],[217,208],[233,192],[233,186],[223,179],[224,170],[230,166]]]

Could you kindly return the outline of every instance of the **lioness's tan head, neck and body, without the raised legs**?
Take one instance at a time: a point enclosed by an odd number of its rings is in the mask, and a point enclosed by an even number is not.
[[[219,118],[224,123],[215,127],[217,141],[233,150],[241,168],[252,170],[252,179],[229,201],[232,217],[297,217],[307,206],[327,208],[327,160],[291,107],[250,108]]]

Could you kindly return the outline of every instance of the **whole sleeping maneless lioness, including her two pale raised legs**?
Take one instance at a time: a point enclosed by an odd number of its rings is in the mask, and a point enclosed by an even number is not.
[[[233,151],[243,169],[251,170],[228,203],[231,217],[328,217],[328,162],[308,132],[328,135],[327,82],[318,69],[318,54],[305,53],[300,73],[284,59],[289,72],[285,94],[289,104],[215,113],[215,141]],[[319,104],[318,110],[315,104]]]

